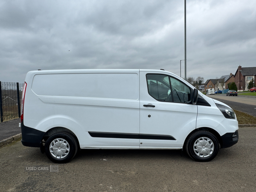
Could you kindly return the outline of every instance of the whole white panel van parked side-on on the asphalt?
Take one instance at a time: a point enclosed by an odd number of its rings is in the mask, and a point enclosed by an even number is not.
[[[186,149],[197,161],[238,142],[234,111],[165,70],[40,70],[26,75],[22,144],[55,163],[81,149]]]

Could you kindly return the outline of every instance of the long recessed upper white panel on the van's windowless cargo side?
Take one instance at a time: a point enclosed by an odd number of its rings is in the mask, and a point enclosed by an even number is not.
[[[139,99],[136,73],[38,74],[32,91],[38,96]]]

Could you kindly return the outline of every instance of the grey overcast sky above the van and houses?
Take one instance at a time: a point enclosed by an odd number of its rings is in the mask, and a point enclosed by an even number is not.
[[[256,0],[187,0],[186,9],[187,77],[256,67]],[[0,1],[0,81],[23,83],[38,69],[180,76],[183,59],[183,0]]]

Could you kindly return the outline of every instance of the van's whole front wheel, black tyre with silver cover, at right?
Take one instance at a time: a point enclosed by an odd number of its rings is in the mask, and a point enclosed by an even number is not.
[[[218,139],[209,131],[197,131],[186,142],[186,152],[195,161],[213,160],[218,150]]]

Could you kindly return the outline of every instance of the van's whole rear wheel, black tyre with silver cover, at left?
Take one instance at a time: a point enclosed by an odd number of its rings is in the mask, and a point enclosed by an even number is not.
[[[54,163],[67,163],[75,157],[77,141],[72,134],[59,132],[52,134],[45,143],[45,154]]]

